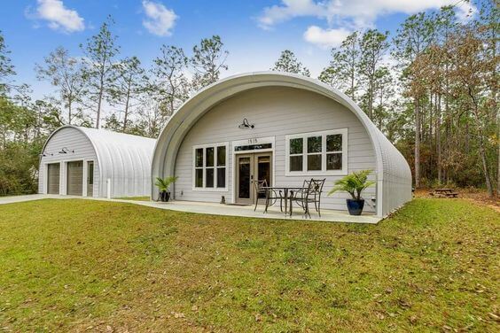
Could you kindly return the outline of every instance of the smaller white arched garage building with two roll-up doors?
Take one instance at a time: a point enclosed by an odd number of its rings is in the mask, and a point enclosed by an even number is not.
[[[83,197],[149,196],[155,142],[105,129],[58,128],[43,145],[38,192]]]

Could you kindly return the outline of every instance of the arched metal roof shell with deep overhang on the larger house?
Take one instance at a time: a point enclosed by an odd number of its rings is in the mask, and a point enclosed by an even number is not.
[[[370,136],[377,159],[378,215],[386,216],[410,200],[411,173],[406,159],[352,99],[321,81],[298,74],[278,72],[255,72],[230,76],[207,86],[188,99],[168,120],[156,142],[152,158],[152,181],[157,175],[174,174],[176,153],[184,136],[191,126],[214,105],[242,91],[270,86],[309,90],[332,98],[353,112]]]

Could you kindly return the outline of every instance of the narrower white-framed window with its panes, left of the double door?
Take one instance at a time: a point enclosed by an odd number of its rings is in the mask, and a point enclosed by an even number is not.
[[[228,143],[193,147],[193,188],[226,190]]]

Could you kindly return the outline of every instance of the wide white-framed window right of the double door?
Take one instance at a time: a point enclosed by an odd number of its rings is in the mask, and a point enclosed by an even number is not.
[[[285,173],[347,174],[348,128],[285,136]]]

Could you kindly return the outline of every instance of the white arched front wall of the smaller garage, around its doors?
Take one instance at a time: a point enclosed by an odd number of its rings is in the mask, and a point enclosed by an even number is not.
[[[74,152],[68,152],[66,154],[59,154],[62,148],[66,147],[68,150]],[[85,136],[77,128],[66,127],[60,128],[55,132],[45,143],[43,149],[43,156],[40,159],[40,172],[38,176],[38,192],[43,193],[44,182],[46,182],[46,163],[60,162],[60,177],[62,179],[60,194],[66,194],[66,163],[68,160],[94,160],[94,195],[98,197],[98,186],[99,186],[99,164],[98,157],[92,143],[87,136]],[[46,185],[46,184],[45,184]]]

